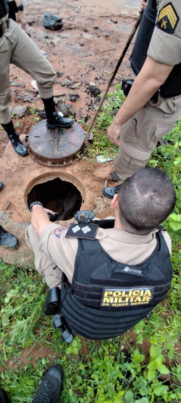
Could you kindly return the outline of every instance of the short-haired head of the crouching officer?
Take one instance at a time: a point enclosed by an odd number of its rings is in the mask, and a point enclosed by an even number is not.
[[[140,168],[127,178],[118,192],[120,220],[136,230],[152,230],[175,207],[171,180],[163,169]]]

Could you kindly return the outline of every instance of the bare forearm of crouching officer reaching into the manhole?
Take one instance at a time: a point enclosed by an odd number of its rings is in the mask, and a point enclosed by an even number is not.
[[[40,205],[35,205],[32,208],[32,216],[31,216],[31,224],[37,233],[37,235],[41,235],[42,229],[50,224],[49,216],[43,210],[43,207]]]

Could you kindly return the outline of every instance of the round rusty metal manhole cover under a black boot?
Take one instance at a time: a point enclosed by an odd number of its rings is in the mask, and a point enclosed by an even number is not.
[[[77,124],[69,129],[47,129],[46,120],[33,127],[28,145],[33,158],[40,164],[62,164],[73,160],[84,147],[84,132]]]

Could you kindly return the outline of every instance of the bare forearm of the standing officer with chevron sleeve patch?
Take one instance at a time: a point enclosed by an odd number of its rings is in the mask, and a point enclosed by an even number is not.
[[[155,62],[147,57],[140,73],[134,80],[134,84],[130,92],[118,111],[115,122],[118,125],[123,125],[130,119],[138,110],[140,110],[155,92],[166,81],[173,66]]]

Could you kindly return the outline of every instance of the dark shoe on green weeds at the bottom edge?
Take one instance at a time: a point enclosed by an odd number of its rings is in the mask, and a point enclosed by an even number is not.
[[[63,370],[56,364],[43,376],[32,403],[56,403],[63,386]]]

